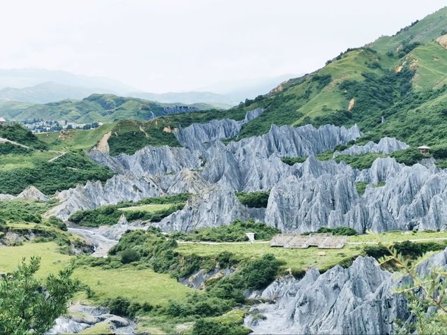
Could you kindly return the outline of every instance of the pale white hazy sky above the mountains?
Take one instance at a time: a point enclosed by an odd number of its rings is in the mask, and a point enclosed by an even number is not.
[[[47,68],[146,91],[308,73],[394,34],[441,0],[9,0],[0,68]]]

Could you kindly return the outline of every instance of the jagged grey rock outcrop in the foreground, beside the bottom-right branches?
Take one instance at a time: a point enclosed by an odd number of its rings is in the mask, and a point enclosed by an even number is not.
[[[254,334],[390,334],[393,320],[406,320],[400,285],[374,258],[357,258],[351,267],[333,267],[324,274],[307,271],[302,280],[275,281],[256,298],[274,301],[251,308],[245,325]]]

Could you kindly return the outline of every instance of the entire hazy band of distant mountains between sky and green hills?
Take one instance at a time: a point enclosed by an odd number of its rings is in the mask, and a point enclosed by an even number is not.
[[[267,94],[291,75],[235,80],[210,85],[208,89],[151,93],[117,80],[75,75],[66,71],[42,69],[0,69],[0,103],[54,103],[64,99],[80,100],[91,94],[116,94],[159,103],[205,103],[219,109],[238,105],[246,98]]]

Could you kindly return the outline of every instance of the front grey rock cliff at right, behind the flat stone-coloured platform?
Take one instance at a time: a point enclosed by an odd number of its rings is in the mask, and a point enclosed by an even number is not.
[[[406,166],[393,158],[377,158],[369,170],[309,158],[270,192],[265,222],[284,232],[305,232],[322,226],[373,230],[447,229],[447,171],[423,165]],[[367,186],[356,191],[357,181]]]

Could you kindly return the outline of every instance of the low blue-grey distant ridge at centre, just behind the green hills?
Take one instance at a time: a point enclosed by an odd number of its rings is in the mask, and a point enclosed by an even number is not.
[[[237,105],[240,101],[223,94],[216,94],[207,91],[189,91],[189,92],[167,92],[167,93],[147,93],[147,92],[131,92],[129,96],[142,98],[159,103],[207,103],[217,108],[229,108]]]

